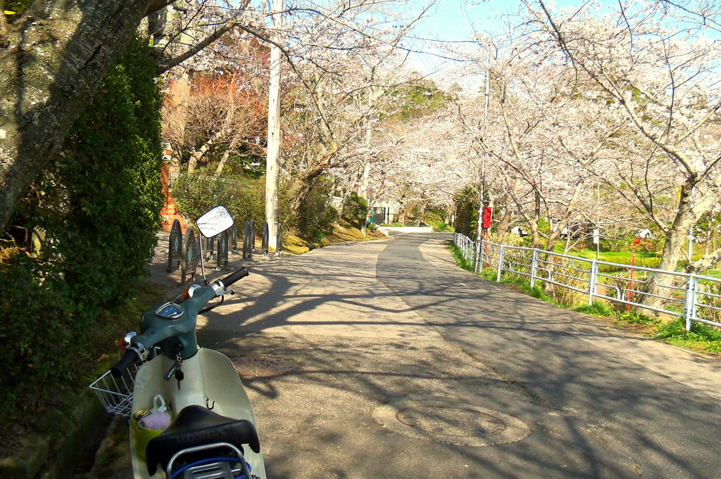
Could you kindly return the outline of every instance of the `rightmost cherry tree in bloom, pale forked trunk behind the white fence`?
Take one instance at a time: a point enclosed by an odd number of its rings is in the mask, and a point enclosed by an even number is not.
[[[592,82],[595,94],[606,97],[614,115],[623,113],[606,117],[623,120],[619,150],[630,158],[625,169],[616,162],[615,171],[629,200],[663,231],[660,269],[676,269],[689,228],[714,207],[721,186],[721,50],[701,35],[704,28],[717,27],[718,6],[620,1],[612,14],[598,18],[591,13],[596,2],[566,14],[552,13],[542,0],[524,3],[534,26]],[[659,214],[658,174],[676,186],[670,220]],[[719,258],[721,251],[688,271]]]

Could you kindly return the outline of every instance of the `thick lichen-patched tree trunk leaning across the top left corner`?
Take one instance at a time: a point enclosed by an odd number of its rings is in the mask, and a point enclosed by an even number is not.
[[[0,232],[150,4],[35,0],[13,23],[0,16]]]

